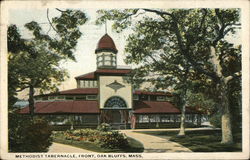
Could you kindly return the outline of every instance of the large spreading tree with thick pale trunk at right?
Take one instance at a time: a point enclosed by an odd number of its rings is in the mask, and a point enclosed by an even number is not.
[[[240,78],[241,68],[228,71],[228,60],[234,59],[231,65],[238,66],[241,49],[229,43],[226,36],[235,34],[240,27],[238,9],[143,8],[100,10],[98,13],[97,24],[113,20],[113,28],[118,32],[132,28],[125,48],[128,63],[144,67],[146,73],[157,74],[157,71],[163,73],[161,70],[171,68],[172,61],[176,64],[184,59],[194,75],[193,81],[216,86],[213,98],[221,105],[221,142],[233,142],[229,83]],[[169,59],[171,61],[167,62]],[[178,67],[172,69],[176,71]]]

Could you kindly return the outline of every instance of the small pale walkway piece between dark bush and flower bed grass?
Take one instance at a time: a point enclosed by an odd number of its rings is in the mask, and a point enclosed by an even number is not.
[[[48,152],[49,153],[89,153],[93,151],[53,142],[52,145],[49,147]]]

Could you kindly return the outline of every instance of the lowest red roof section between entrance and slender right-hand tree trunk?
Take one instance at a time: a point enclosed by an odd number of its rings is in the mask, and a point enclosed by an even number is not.
[[[159,101],[135,101],[134,110],[134,113],[137,114],[181,113],[180,110],[171,103]]]

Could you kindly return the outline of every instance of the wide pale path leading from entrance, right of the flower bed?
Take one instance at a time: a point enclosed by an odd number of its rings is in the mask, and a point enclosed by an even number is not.
[[[192,152],[190,149],[169,141],[168,136],[153,136],[133,132],[133,130],[121,130],[128,137],[140,141],[144,146],[145,153],[164,153],[164,152]]]

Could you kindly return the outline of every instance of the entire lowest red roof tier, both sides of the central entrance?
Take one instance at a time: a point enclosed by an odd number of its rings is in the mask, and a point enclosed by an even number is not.
[[[180,110],[169,102],[134,101],[135,114],[180,114]],[[22,108],[19,113],[28,114],[29,107]],[[36,114],[98,114],[100,113],[97,101],[45,101],[35,103]],[[186,113],[199,113],[186,108]]]

